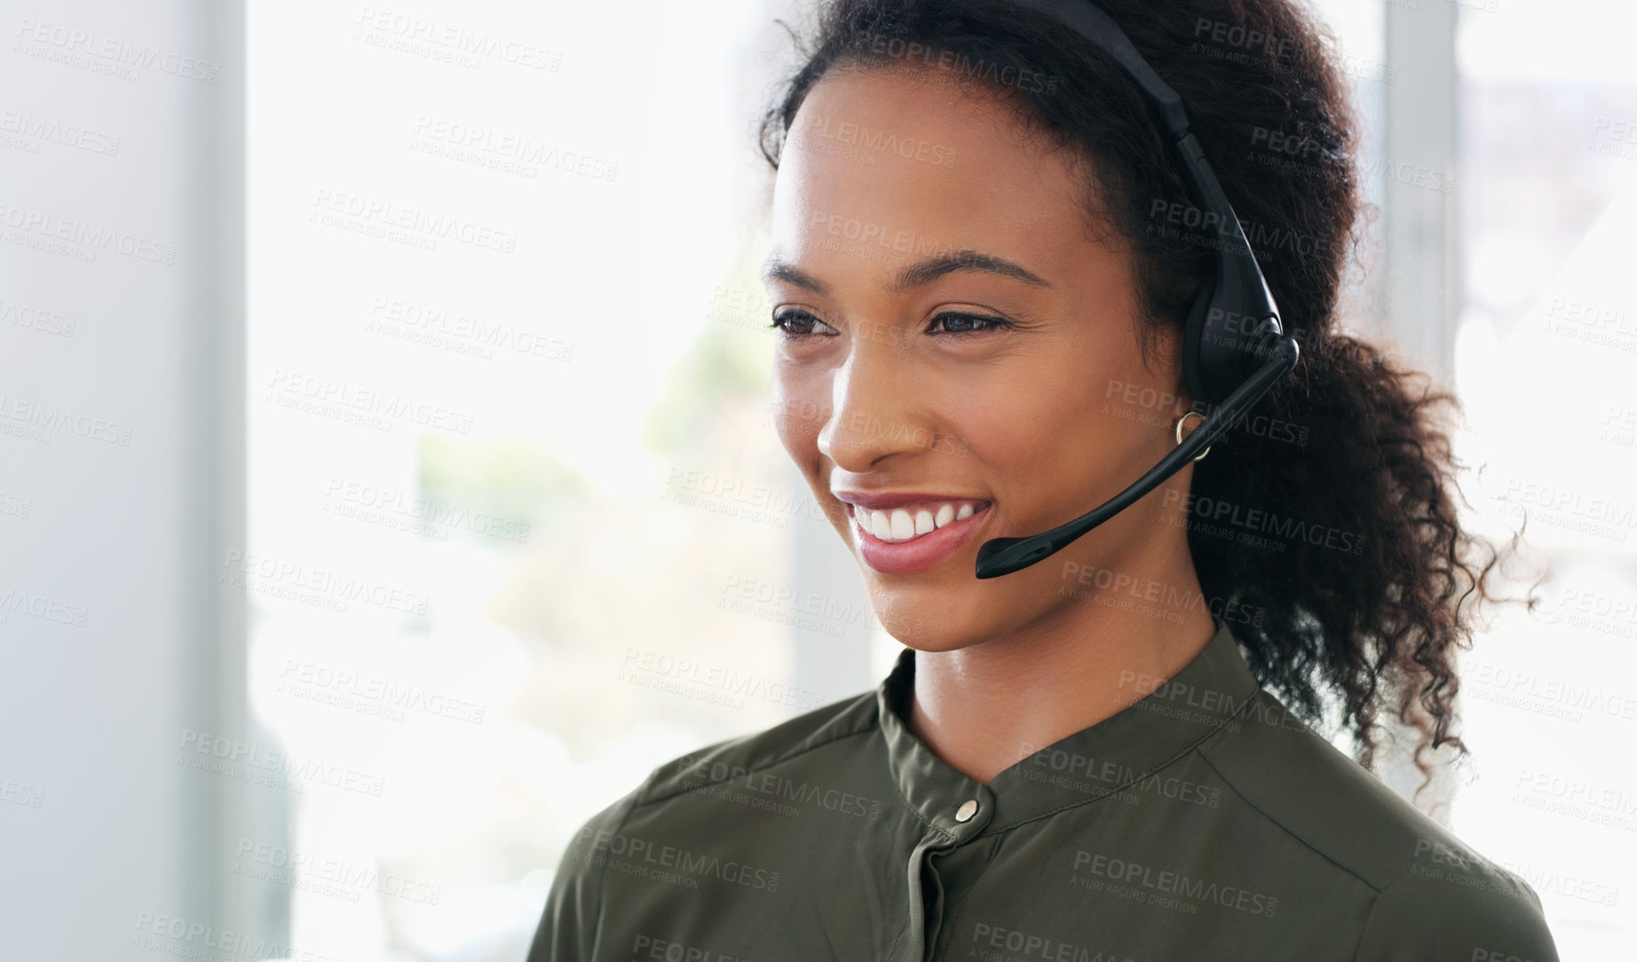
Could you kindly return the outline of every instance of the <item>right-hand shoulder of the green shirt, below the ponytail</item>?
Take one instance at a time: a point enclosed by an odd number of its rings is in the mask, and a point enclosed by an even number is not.
[[[1239,730],[1200,746],[1293,846],[1362,880],[1373,905],[1357,959],[1555,962],[1540,898],[1259,690]]]

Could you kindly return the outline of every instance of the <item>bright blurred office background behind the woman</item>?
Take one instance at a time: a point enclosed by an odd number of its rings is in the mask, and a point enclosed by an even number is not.
[[[1349,322],[1555,569],[1437,816],[1637,959],[1637,8],[1316,8]],[[768,420],[804,10],[0,3],[0,955],[516,960],[584,818],[876,684]]]

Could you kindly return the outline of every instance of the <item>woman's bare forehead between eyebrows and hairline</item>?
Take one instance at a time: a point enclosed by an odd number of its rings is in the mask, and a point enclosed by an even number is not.
[[[774,254],[820,260],[864,242],[871,260],[902,260],[966,247],[1049,268],[1084,236],[1082,188],[1074,155],[1015,110],[936,70],[832,69],[779,157]]]

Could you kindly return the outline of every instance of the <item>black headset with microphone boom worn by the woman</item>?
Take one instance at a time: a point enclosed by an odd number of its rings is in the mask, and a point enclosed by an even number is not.
[[[1215,411],[1161,458],[1148,474],[1090,512],[1026,538],[990,538],[977,550],[977,578],[999,578],[1049,558],[1085,532],[1125,510],[1144,494],[1175,474],[1221,437],[1246,414],[1274,381],[1297,366],[1300,347],[1278,322],[1278,304],[1262,278],[1262,268],[1251,254],[1239,218],[1228,205],[1216,173],[1205,160],[1200,142],[1188,131],[1182,98],[1148,61],[1136,52],[1120,26],[1089,0],[1015,0],[1049,13],[1092,41],[1143,87],[1159,106],[1166,129],[1184,159],[1184,172],[1193,185],[1203,211],[1202,221],[1218,234],[1216,276],[1205,281],[1182,335],[1182,378],[1195,402],[1215,404]]]

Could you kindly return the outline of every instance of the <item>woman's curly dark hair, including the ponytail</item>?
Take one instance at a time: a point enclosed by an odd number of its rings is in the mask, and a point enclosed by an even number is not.
[[[1411,759],[1424,789],[1423,753],[1468,754],[1455,648],[1472,645],[1477,604],[1503,600],[1491,582],[1503,553],[1457,517],[1462,465],[1444,420],[1460,414],[1455,396],[1334,329],[1364,239],[1357,119],[1334,38],[1290,0],[1100,7],[1182,97],[1301,345],[1292,376],[1193,466],[1190,512],[1277,509],[1354,535],[1347,551],[1301,537],[1275,551],[1190,524],[1200,584],[1264,614],[1234,627],[1257,681],[1310,725],[1336,713],[1365,769],[1375,771],[1383,705],[1418,730]],[[1130,242],[1144,355],[1156,334],[1180,330],[1215,257],[1197,236],[1156,229],[1156,211],[1190,209],[1188,187],[1148,98],[1108,54],[1003,0],[823,0],[812,39],[792,38],[804,62],[758,129],[774,170],[802,100],[837,65],[902,69],[1005,98],[1030,131],[1072,151],[1087,223]],[[1246,429],[1257,412],[1301,425],[1301,443]],[[1536,602],[1531,592],[1529,610]],[[1341,700],[1326,708],[1329,692]]]

